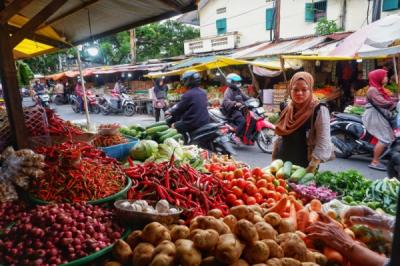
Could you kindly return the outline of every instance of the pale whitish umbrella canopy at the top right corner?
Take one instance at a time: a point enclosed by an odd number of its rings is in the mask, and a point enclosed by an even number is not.
[[[400,52],[397,40],[400,40],[400,15],[394,14],[357,30],[329,55],[353,58],[386,57]]]

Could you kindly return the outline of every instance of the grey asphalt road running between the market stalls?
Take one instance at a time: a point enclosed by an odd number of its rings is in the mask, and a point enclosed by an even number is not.
[[[57,113],[65,120],[85,121],[84,114],[76,114],[72,111],[70,105],[54,106]],[[108,115],[104,116],[101,114],[91,114],[91,122],[93,124],[101,123],[119,123],[121,125],[130,124],[142,124],[148,125],[154,122],[154,118],[148,115],[135,114],[132,117],[126,117],[123,115]],[[242,146],[237,148],[237,159],[246,162],[251,166],[267,166],[271,162],[271,155],[262,153],[257,146]],[[371,179],[384,178],[386,177],[385,172],[375,171],[368,168],[369,158],[365,157],[354,157],[351,159],[336,159],[334,161],[321,165],[321,170],[330,171],[344,171],[347,169],[356,169],[360,171],[365,177]]]

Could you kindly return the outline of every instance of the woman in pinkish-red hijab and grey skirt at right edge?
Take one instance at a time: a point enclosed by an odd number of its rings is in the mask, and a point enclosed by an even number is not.
[[[386,166],[380,162],[379,158],[385,148],[394,141],[393,129],[389,120],[396,103],[383,88],[388,81],[386,70],[377,69],[369,72],[368,80],[367,99],[369,104],[366,106],[362,121],[367,131],[378,139],[378,143],[374,147],[372,162],[368,166],[372,169],[386,171]]]

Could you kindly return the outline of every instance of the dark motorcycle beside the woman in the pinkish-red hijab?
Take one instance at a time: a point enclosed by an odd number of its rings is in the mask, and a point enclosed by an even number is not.
[[[333,113],[330,123],[331,139],[338,158],[352,155],[372,156],[378,140],[368,133],[358,115]],[[400,178],[400,136],[385,149],[381,159],[388,159],[389,177]]]

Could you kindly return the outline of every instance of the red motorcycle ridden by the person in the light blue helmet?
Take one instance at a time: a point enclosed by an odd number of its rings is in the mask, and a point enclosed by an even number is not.
[[[251,144],[256,142],[262,152],[272,153],[275,126],[265,119],[265,110],[260,106],[260,101],[255,98],[250,98],[244,102],[239,110],[243,112],[246,118],[246,132],[243,134],[241,141]],[[224,123],[229,127],[230,141],[234,144],[238,144],[234,138],[236,130],[231,124],[232,121],[229,121],[218,108],[209,109],[208,113],[213,122]],[[249,130],[251,132],[248,132]],[[250,136],[250,139],[246,136]]]

